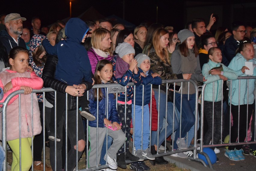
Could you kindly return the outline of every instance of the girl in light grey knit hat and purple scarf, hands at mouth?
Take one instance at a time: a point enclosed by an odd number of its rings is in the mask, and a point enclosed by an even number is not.
[[[120,32],[119,32],[120,33]],[[129,43],[120,43],[116,47],[116,55],[112,58],[114,82],[120,85],[126,86],[128,82],[133,82],[135,85],[140,85],[142,80],[140,73],[138,72],[138,62],[134,59],[134,48]],[[126,168],[125,158],[130,161],[138,161],[139,158],[132,155],[129,151],[129,139],[130,139],[130,124],[132,119],[132,98],[133,98],[133,86],[127,86],[127,92],[119,93],[117,97],[117,112],[121,119],[122,130],[127,138],[125,142],[125,148],[122,146],[118,151],[117,164],[121,168]],[[126,109],[125,109],[126,100]],[[125,118],[126,111],[126,118]],[[126,152],[126,154],[125,154]]]

